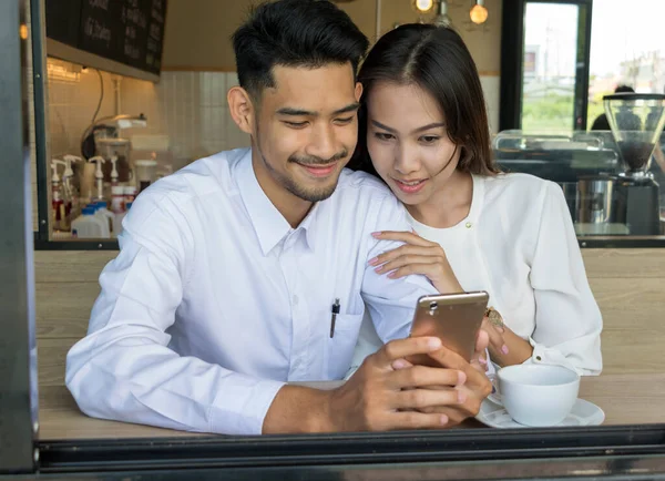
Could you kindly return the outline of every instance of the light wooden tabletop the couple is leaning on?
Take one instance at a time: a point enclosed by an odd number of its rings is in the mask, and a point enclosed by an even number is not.
[[[665,373],[585,377],[580,397],[605,411],[604,426],[665,422]],[[89,418],[64,386],[41,387],[39,398],[41,440],[209,436]]]

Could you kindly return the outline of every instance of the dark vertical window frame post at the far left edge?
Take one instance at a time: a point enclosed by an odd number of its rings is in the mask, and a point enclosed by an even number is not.
[[[0,472],[34,469],[37,392],[25,0],[0,2]],[[23,27],[23,29],[20,29]]]

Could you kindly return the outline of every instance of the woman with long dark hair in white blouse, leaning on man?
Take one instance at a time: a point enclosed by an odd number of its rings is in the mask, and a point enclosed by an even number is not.
[[[440,293],[487,290],[483,329],[499,366],[602,369],[602,318],[561,188],[493,164],[475,64],[452,30],[402,25],[360,72],[364,105],[354,165],[380,176],[413,233],[370,262],[389,277],[426,275]],[[364,325],[355,365],[380,346]]]

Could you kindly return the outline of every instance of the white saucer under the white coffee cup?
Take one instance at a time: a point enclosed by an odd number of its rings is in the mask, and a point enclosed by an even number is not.
[[[480,422],[492,428],[529,428],[528,426],[520,424],[514,421],[505,408],[498,401],[497,396],[491,396],[492,399],[488,398],[482,401],[480,412],[475,417]],[[600,426],[605,420],[605,413],[593,402],[589,402],[584,399],[577,398],[575,405],[566,418],[559,424],[553,427],[565,427],[565,426]]]

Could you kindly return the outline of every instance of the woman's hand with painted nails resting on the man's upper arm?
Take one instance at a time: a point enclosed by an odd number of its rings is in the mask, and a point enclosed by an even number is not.
[[[423,239],[416,233],[385,231],[374,233],[381,240],[398,240],[405,245],[388,250],[369,262],[378,274],[388,273],[390,278],[399,278],[411,274],[427,276],[434,288],[441,294],[461,293],[458,282],[443,248],[433,242]]]

